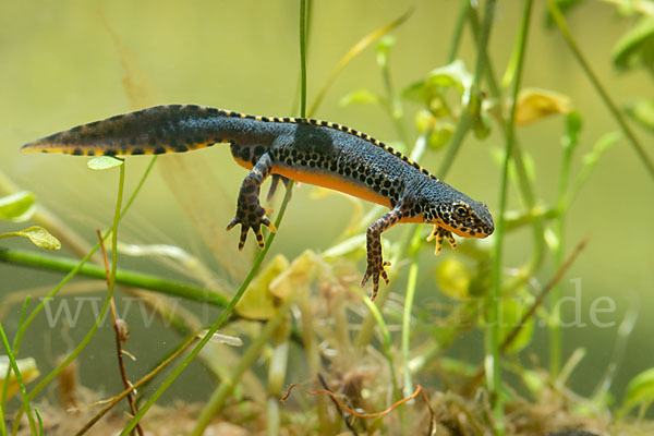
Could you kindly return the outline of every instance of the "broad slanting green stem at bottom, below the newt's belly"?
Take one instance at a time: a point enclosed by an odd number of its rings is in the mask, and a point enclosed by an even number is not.
[[[279,311],[277,311],[272,319],[270,319],[262,329],[247,351],[245,351],[243,354],[243,358],[239,361],[239,364],[233,370],[230,377],[225,378],[218,386],[218,389],[214,391],[211,398],[208,400],[207,404],[203,408],[199,416],[197,417],[195,427],[193,427],[190,436],[201,436],[204,433],[205,428],[209,425],[216,413],[222,409],[225,401],[231,395],[234,387],[239,384],[239,380],[243,374],[254,364],[257,359],[261,358],[263,348],[268,343],[268,340],[275,330],[284,320],[288,311],[293,304],[294,298],[288,298]],[[213,335],[210,330],[209,334]],[[207,337],[210,337],[209,334],[207,334]]]

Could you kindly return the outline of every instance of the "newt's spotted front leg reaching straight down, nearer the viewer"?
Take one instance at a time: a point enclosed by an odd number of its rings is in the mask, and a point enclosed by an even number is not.
[[[375,300],[377,291],[379,290],[379,276],[384,278],[386,286],[388,286],[388,276],[386,275],[385,266],[390,266],[390,262],[384,262],[382,257],[382,233],[397,225],[402,219],[402,210],[399,207],[384,214],[375,222],[368,227],[366,237],[366,250],[367,250],[367,268],[361,286],[365,286],[367,280],[373,278],[373,295],[371,300]]]

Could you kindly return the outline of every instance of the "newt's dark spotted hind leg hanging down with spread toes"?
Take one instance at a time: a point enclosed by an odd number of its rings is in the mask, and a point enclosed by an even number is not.
[[[272,160],[270,159],[270,156],[265,153],[258,159],[254,168],[245,175],[245,179],[243,179],[241,190],[239,191],[239,199],[237,202],[237,215],[227,226],[227,230],[231,230],[235,225],[241,225],[239,250],[243,250],[250,229],[254,232],[259,249],[264,247],[262,225],[269,228],[274,233],[277,232],[272,222],[266,217],[266,214],[271,210],[262,207],[259,203],[262,183],[264,183],[264,180],[270,174],[271,169]]]

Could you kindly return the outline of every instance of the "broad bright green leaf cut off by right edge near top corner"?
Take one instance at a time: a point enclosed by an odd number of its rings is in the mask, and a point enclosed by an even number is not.
[[[643,16],[616,43],[614,64],[629,69],[643,64],[654,72],[654,16]]]

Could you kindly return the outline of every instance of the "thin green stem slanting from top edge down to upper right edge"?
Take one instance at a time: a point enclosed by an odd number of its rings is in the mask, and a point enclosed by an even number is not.
[[[616,104],[611,100],[611,98],[608,95],[608,92],[602,85],[602,83],[600,83],[600,80],[597,78],[597,76],[595,75],[593,70],[591,69],[590,63],[586,61],[586,59],[582,55],[581,50],[579,49],[579,46],[577,45],[577,43],[574,41],[574,38],[572,37],[572,34],[570,33],[570,29],[568,28],[568,25],[566,24],[566,19],[564,17],[564,14],[561,13],[560,9],[558,8],[556,1],[547,0],[547,7],[549,8],[549,13],[552,14],[552,17],[554,19],[555,23],[557,24],[557,26],[564,34],[564,38],[566,39],[566,43],[568,43],[570,50],[572,50],[574,58],[577,59],[577,61],[579,62],[579,64],[581,65],[583,71],[586,73],[586,75],[591,80],[591,83],[595,87],[595,90],[597,92],[597,94],[600,94],[600,97],[602,97],[602,100],[608,107],[608,110],[610,111],[610,113],[614,116],[614,118],[620,125],[620,129],[625,133],[625,136],[627,136],[627,140],[629,140],[629,142],[635,149],[635,153],[639,155],[641,161],[643,162],[643,165],[650,172],[650,175],[652,178],[654,178],[654,164],[652,164],[652,160],[647,156],[647,153],[643,148],[642,144],[638,141],[638,138],[635,137],[635,134],[633,133],[633,131],[631,130],[629,124],[627,124],[627,120],[622,116],[622,112],[620,112],[620,110],[618,109]]]

